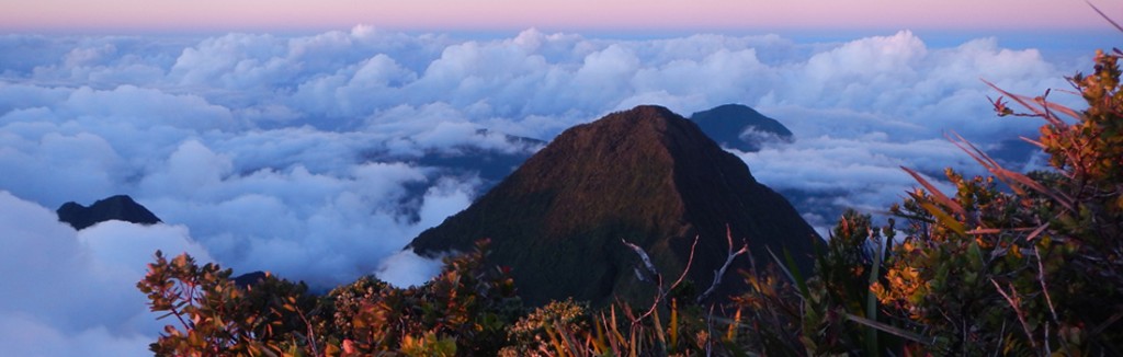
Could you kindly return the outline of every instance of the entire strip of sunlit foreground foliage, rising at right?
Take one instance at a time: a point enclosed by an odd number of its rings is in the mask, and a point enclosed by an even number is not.
[[[704,306],[659,286],[650,306],[592,310],[574,301],[524,310],[486,242],[446,260],[430,283],[373,277],[312,296],[273,276],[236,286],[230,271],[159,253],[138,283],[173,321],[152,345],[174,356],[661,356],[661,355],[1123,355],[1123,92],[1119,60],[1099,53],[1071,77],[1088,103],[1004,93],[1002,116],[1046,121],[1034,143],[1052,171],[1003,168],[942,193],[920,189],[877,228],[843,214],[800,272],[786,253],[741,272],[747,292]],[[999,90],[1001,91],[1001,90]],[[1066,121],[1070,120],[1072,122]],[[903,237],[897,237],[903,235]],[[624,247],[621,247],[624,248]],[[740,251],[732,251],[737,257]],[[638,251],[640,253],[640,251]],[[750,256],[750,255],[747,255]],[[660,280],[661,281],[661,280]]]

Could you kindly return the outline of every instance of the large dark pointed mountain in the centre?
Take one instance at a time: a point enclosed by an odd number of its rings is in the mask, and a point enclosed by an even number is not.
[[[573,296],[595,303],[650,294],[636,278],[642,247],[677,277],[701,237],[688,277],[699,291],[725,260],[729,226],[758,262],[765,246],[804,257],[819,239],[779,194],[696,125],[661,107],[637,107],[570,128],[472,207],[422,232],[408,248],[433,256],[492,239],[492,262],[510,266],[531,304]],[[739,246],[739,244],[738,244]],[[801,262],[810,267],[810,262]],[[739,285],[736,268],[725,289]]]

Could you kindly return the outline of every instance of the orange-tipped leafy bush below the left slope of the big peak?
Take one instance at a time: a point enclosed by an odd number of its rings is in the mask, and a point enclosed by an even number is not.
[[[365,280],[359,283],[366,287],[337,289],[337,328],[359,353],[396,350],[409,339],[413,347],[454,341],[460,355],[495,355],[506,346],[506,327],[518,318],[521,303],[508,272],[484,264],[487,245],[482,240],[474,251],[446,258],[440,275],[421,286],[401,290],[375,283],[382,289],[374,290]]]

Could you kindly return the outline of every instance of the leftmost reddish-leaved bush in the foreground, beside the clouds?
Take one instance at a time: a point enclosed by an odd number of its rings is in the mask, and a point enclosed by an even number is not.
[[[266,276],[256,289],[241,289],[230,269],[217,264],[199,266],[186,254],[156,262],[137,283],[148,295],[149,308],[174,318],[150,345],[167,356],[291,356],[294,348],[319,354],[309,313],[316,299],[303,284]]]

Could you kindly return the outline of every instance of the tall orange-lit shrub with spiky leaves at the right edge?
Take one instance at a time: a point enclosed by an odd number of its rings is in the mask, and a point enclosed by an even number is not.
[[[1008,171],[958,136],[953,143],[993,176],[949,170],[957,189],[949,196],[910,171],[926,190],[892,209],[909,220],[910,235],[874,289],[913,331],[934,337],[930,350],[1123,354],[1120,56],[1099,52],[1092,75],[1070,79],[1088,103],[1083,111],[1049,102],[1048,92],[999,89],[1029,110],[1015,112],[999,98],[1001,116],[1046,121],[1030,141],[1054,172]]]

